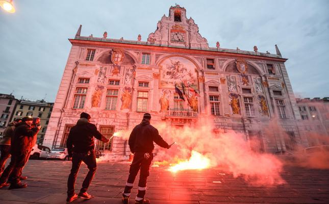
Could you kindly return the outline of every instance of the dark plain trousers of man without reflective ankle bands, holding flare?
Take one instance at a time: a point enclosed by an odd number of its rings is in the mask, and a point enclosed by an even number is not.
[[[95,157],[95,151],[90,151],[90,154],[88,155],[87,153],[75,153],[73,152],[72,155],[72,168],[71,168],[71,173],[68,176],[67,180],[67,195],[71,196],[74,194],[74,184],[75,180],[77,180],[77,175],[78,171],[81,165],[81,162],[84,162],[89,171],[85,177],[85,180],[82,183],[82,188],[80,192],[84,193],[87,191],[92,178],[95,175],[96,172],[96,157]]]

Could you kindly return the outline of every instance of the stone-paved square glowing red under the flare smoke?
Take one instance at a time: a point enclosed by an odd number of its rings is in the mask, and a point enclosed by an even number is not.
[[[24,189],[0,189],[0,203],[65,203],[66,181],[70,162],[30,160],[23,175],[29,187]],[[77,199],[73,203],[121,203],[129,171],[126,162],[102,162],[88,192],[95,197]],[[78,175],[76,191],[79,192],[87,168],[83,164]],[[279,186],[250,186],[240,177],[221,168],[188,170],[177,173],[152,167],[147,182],[146,197],[151,203],[329,203],[329,170],[285,168],[287,184]],[[131,203],[137,192],[137,182]]]

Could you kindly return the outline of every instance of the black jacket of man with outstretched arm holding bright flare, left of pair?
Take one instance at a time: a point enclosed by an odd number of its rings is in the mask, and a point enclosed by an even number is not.
[[[86,118],[80,118],[77,124],[71,127],[70,133],[66,140],[68,154],[72,152],[86,153],[95,148],[94,137],[102,142],[109,142],[97,131],[96,125],[88,122]]]

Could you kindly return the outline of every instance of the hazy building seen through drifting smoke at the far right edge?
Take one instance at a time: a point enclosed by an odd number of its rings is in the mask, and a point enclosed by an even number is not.
[[[329,145],[329,97],[296,100],[309,145]]]

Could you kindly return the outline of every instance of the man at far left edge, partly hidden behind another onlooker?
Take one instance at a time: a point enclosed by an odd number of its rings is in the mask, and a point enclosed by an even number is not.
[[[16,118],[14,121],[8,124],[4,131],[4,137],[0,140],[0,151],[1,151],[1,157],[0,157],[0,175],[5,169],[5,164],[7,159],[10,157],[10,141],[11,138],[14,135],[15,130],[15,124],[18,122],[21,122],[22,119]]]

